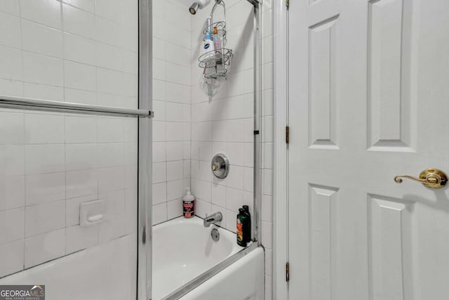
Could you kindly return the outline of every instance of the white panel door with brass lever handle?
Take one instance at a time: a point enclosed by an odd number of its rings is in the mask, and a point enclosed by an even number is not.
[[[291,0],[289,296],[449,299],[449,1]]]

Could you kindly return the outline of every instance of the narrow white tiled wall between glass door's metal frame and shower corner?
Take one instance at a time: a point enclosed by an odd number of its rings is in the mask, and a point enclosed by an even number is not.
[[[153,223],[182,214],[190,186],[190,14],[153,1]]]

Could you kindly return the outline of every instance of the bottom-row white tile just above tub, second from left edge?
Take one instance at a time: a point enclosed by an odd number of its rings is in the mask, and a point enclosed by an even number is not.
[[[65,228],[25,240],[25,268],[56,259],[65,254]]]

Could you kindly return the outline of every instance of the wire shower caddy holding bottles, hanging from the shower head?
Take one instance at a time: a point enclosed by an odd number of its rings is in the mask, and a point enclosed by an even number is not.
[[[213,22],[213,14],[218,5],[223,6],[223,20]],[[214,79],[227,79],[227,72],[232,61],[232,49],[226,48],[226,8],[223,0],[215,0],[215,4],[206,22],[206,27],[203,29],[203,41],[206,41],[206,34],[211,34],[214,28],[217,28],[217,33],[214,37],[220,39],[220,48],[203,53],[199,56],[199,67],[203,69],[203,78],[208,85],[208,95],[212,95],[212,85]]]

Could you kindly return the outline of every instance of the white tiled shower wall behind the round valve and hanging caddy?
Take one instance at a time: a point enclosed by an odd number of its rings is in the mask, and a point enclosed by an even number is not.
[[[196,214],[221,211],[221,226],[236,231],[236,214],[243,204],[253,208],[254,164],[254,38],[253,6],[227,0],[227,44],[234,57],[227,80],[215,81],[213,96],[201,84],[204,21],[210,7],[192,16],[192,191]],[[218,6],[214,22],[222,19]],[[229,157],[229,175],[213,176],[210,161],[217,152]]]

